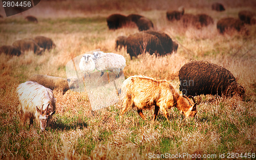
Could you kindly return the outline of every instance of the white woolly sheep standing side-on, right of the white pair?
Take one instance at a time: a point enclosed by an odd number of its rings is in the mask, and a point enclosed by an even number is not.
[[[125,59],[123,56],[114,53],[104,53],[103,51],[94,51],[93,60],[95,67],[101,71],[102,76],[104,71],[114,72],[119,77],[120,70],[125,67]]]

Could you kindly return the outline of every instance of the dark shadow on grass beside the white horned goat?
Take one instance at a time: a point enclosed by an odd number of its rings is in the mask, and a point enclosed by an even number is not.
[[[57,129],[57,130],[71,130],[71,129],[79,129],[83,127],[87,127],[87,122],[76,122],[76,123],[63,123],[63,122],[52,122],[49,126],[51,129]]]

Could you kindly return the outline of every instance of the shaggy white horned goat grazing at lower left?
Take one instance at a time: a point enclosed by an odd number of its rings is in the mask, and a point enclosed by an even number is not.
[[[36,82],[27,81],[17,87],[16,93],[19,100],[20,119],[25,124],[29,118],[29,128],[33,124],[33,119],[39,120],[41,131],[44,131],[56,110],[52,90]]]

